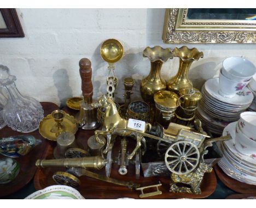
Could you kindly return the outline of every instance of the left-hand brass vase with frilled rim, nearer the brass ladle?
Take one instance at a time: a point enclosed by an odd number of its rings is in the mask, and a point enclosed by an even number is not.
[[[149,75],[141,81],[141,96],[145,102],[153,104],[154,94],[166,89],[166,81],[160,76],[162,64],[173,58],[173,55],[170,48],[155,46],[145,48],[143,57],[149,58],[151,68]]]

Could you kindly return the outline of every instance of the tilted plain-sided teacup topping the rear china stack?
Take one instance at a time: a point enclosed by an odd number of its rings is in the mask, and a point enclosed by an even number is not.
[[[245,57],[233,56],[223,60],[222,73],[229,79],[246,82],[256,73],[256,68]]]

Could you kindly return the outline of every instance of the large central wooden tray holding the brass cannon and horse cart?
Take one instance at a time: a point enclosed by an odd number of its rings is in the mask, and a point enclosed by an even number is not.
[[[77,111],[65,108],[63,109],[67,113],[74,115]],[[90,136],[94,134],[94,131],[85,131],[78,130],[76,133],[77,142],[82,144],[84,148],[87,148],[87,140]],[[135,139],[129,139],[128,149],[132,149],[135,147]],[[47,143],[45,148],[45,152],[42,158],[51,159],[53,158],[53,149],[56,143]],[[117,141],[114,145],[113,155],[117,157],[118,149],[120,146],[120,139],[117,138]],[[211,195],[217,186],[217,179],[214,174],[206,173],[203,178],[201,191],[202,194],[183,194],[183,193],[171,193],[169,192],[169,183],[170,177],[151,177],[144,178],[141,172],[141,177],[139,180],[135,179],[135,167],[134,165],[130,165],[128,167],[128,173],[124,176],[119,175],[118,173],[118,165],[112,164],[112,171],[110,174],[111,178],[125,180],[125,181],[133,181],[137,183],[141,183],[142,186],[152,185],[161,181],[162,186],[159,188],[162,191],[161,195],[156,195],[154,197],[148,197],[147,199],[176,199],[176,198],[206,198]],[[47,186],[56,185],[52,176],[57,171],[63,171],[63,168],[44,168],[38,169],[36,175],[34,176],[34,186],[37,190],[43,189]],[[93,172],[97,172],[104,175],[104,168],[102,170],[91,170]],[[126,187],[114,185],[112,183],[99,181],[96,179],[91,179],[86,176],[82,176],[79,178],[81,181],[81,185],[78,191],[84,196],[85,199],[117,199],[117,198],[136,198],[138,199],[139,191],[135,191]],[[147,190],[149,191],[149,190]],[[145,193],[147,192],[145,191]]]

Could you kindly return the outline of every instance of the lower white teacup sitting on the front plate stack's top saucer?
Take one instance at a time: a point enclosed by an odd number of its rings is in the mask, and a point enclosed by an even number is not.
[[[238,124],[238,123],[237,123]],[[247,137],[236,124],[235,148],[243,155],[255,155],[256,142]]]

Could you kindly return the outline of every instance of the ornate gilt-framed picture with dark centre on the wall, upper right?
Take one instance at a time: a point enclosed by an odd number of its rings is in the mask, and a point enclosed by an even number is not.
[[[178,43],[256,43],[256,9],[166,9],[162,39]]]

